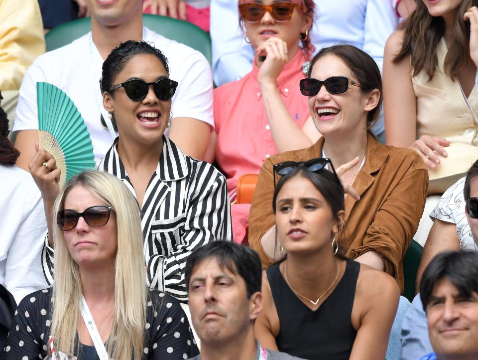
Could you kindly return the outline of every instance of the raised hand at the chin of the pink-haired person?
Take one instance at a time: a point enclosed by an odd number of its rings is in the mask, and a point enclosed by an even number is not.
[[[260,44],[255,52],[256,57],[266,57],[260,65],[257,81],[261,85],[272,84],[276,86],[277,77],[288,61],[287,43],[277,37],[270,37]]]

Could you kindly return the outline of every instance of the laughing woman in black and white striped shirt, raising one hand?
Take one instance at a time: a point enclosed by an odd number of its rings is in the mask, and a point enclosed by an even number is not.
[[[188,255],[209,241],[232,240],[226,180],[213,166],[183,154],[163,135],[177,83],[169,79],[161,51],[143,41],[126,41],[108,56],[102,75],[103,103],[119,138],[97,163],[98,170],[117,176],[138,200],[148,285],[187,301],[184,266]],[[59,178],[59,170],[44,150],[37,156],[44,157],[52,169],[45,174],[44,168],[30,168],[46,208],[51,208],[58,193],[53,179]],[[51,226],[51,215],[48,222]],[[42,253],[50,283],[52,245],[53,239],[48,239]]]

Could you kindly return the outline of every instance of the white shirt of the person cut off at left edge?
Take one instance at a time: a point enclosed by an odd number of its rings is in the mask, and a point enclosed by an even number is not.
[[[48,284],[41,267],[47,233],[40,190],[30,174],[17,166],[0,165],[0,284],[17,303]]]

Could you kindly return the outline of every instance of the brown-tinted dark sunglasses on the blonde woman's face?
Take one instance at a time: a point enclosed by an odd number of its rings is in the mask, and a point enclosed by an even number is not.
[[[105,226],[110,219],[111,206],[92,206],[83,212],[64,209],[58,211],[56,223],[63,231],[69,231],[75,228],[80,217],[83,217],[86,223],[93,227]]]

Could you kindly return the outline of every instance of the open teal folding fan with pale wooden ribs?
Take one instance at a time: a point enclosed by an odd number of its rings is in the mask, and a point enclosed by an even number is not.
[[[36,83],[40,149],[49,152],[61,170],[60,188],[84,170],[95,169],[90,132],[77,107],[63,91]]]

